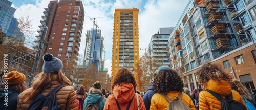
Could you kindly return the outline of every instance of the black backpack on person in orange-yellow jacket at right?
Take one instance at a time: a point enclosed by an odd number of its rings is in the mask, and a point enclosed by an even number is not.
[[[221,101],[221,110],[229,110],[229,109],[246,110],[245,105],[243,105],[242,103],[236,100],[233,100],[232,92],[230,93],[230,95],[226,96],[226,98],[224,99],[219,94],[211,90],[206,90],[206,91],[212,94],[214,97],[216,97],[219,101]]]

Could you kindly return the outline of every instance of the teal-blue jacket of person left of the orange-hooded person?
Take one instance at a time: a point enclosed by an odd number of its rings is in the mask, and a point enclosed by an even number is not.
[[[99,94],[89,94],[86,97],[86,100],[83,102],[83,110],[86,109],[86,106],[89,104],[97,103],[100,99],[101,95]],[[103,109],[106,102],[106,98],[104,97],[101,102],[99,102],[99,109]]]

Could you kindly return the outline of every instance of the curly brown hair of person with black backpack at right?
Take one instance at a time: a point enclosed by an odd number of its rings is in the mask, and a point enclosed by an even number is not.
[[[201,85],[205,85],[210,79],[220,81],[219,78],[231,82],[229,75],[221,69],[220,65],[207,63],[198,71],[198,80]]]

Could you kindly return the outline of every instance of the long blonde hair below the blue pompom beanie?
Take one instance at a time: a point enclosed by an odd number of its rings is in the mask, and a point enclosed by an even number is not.
[[[28,96],[24,101],[29,101],[37,96],[38,93],[45,90],[47,86],[50,85],[52,77],[54,77],[57,74],[58,79],[57,81],[61,84],[71,86],[70,83],[67,81],[67,79],[64,78],[62,71],[55,71],[51,73],[42,73],[39,74],[39,77],[33,81],[31,87],[32,90],[27,92],[25,96]]]

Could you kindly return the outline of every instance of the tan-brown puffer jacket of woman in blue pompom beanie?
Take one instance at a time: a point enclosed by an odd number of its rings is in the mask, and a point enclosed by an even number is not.
[[[52,86],[43,90],[42,95],[46,96],[54,87],[58,86],[60,83],[56,80],[52,80]],[[25,95],[28,91],[31,91],[32,88],[29,88],[18,96],[18,105],[17,110],[26,110],[29,107],[31,100],[24,102],[23,100],[27,98]],[[57,105],[60,106],[61,110],[78,110],[77,102],[76,102],[76,94],[75,90],[72,86],[62,87],[59,91],[56,92]]]

